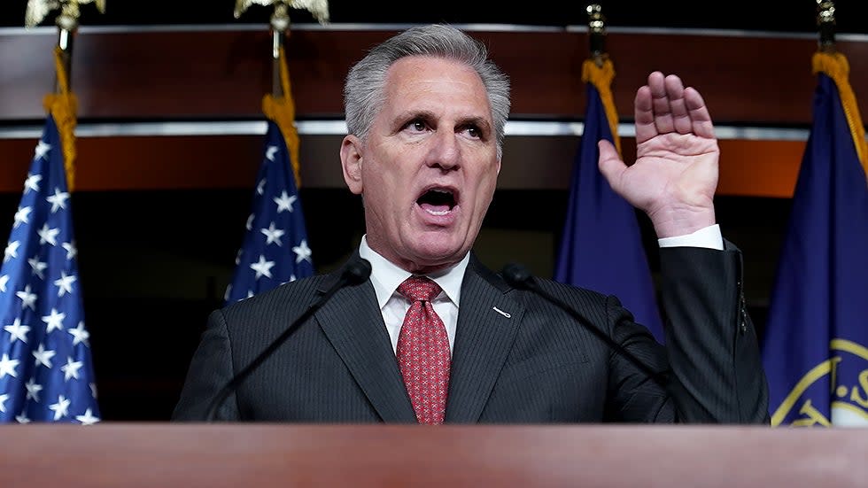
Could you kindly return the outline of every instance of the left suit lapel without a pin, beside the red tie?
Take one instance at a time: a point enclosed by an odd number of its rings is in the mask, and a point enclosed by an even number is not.
[[[416,422],[371,283],[337,291],[315,317],[384,422]]]

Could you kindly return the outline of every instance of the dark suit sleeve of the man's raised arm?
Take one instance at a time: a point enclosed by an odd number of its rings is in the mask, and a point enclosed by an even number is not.
[[[660,258],[674,420],[770,422],[738,248],[663,248]]]

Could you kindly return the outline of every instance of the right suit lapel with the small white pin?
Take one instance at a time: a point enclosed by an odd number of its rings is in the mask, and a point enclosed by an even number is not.
[[[508,290],[471,256],[461,284],[446,422],[477,422],[491,395],[524,315]]]

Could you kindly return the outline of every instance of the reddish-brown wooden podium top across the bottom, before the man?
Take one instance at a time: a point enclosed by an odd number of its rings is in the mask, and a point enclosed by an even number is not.
[[[0,427],[0,487],[868,486],[868,430],[111,423]]]

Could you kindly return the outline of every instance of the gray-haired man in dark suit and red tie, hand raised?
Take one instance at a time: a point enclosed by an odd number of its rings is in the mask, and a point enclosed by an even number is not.
[[[615,297],[548,280],[539,286],[664,382],[568,312],[513,289],[471,251],[500,171],[509,81],[481,43],[434,25],[380,44],[347,76],[340,157],[365,206],[357,255],[370,262],[370,279],[338,290],[215,418],[768,422],[740,252],[715,221],[719,151],[708,109],[696,90],[660,73],[649,75],[635,105],[635,163],[626,166],[601,141],[600,168],[660,238],[665,347]],[[204,420],[217,391],[339,275],[215,311],[174,419]]]

